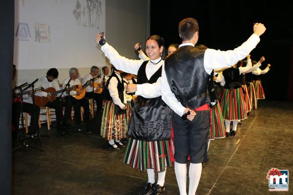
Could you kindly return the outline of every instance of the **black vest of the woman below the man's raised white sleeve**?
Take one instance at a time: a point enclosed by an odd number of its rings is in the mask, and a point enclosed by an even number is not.
[[[223,76],[225,78],[226,89],[237,89],[241,87],[241,78],[239,74],[239,68],[228,68],[223,71]]]

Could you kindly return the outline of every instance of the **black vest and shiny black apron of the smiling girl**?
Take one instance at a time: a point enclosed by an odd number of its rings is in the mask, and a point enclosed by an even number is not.
[[[162,75],[162,66],[149,78],[146,77],[144,61],[137,74],[137,83],[155,83]],[[138,96],[132,109],[128,135],[138,140],[158,141],[171,138],[171,109],[162,97]]]

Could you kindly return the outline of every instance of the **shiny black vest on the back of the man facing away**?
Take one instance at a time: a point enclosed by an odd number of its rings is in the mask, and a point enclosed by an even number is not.
[[[171,91],[183,106],[198,108],[210,102],[210,75],[204,68],[205,50],[180,47],[165,60],[165,72]]]

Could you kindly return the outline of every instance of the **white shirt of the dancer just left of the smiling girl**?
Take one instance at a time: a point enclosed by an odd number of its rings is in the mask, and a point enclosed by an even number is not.
[[[120,82],[123,82],[123,80],[121,79],[121,76],[119,73],[115,72],[115,74],[117,75],[117,77],[119,78]],[[118,80],[116,77],[112,77],[109,81],[109,85],[108,85],[108,90],[110,93],[110,96],[113,100],[113,102],[118,105],[121,109],[123,109],[125,107],[126,104],[126,91],[124,89],[123,94],[124,94],[124,102],[121,101],[121,99],[119,98],[119,94],[118,94]]]

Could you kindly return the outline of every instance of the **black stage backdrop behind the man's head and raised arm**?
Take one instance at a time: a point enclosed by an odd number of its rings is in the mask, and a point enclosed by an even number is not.
[[[270,63],[271,70],[260,76],[267,99],[293,101],[292,3],[265,0],[151,0],[150,35],[160,35],[165,46],[181,43],[178,23],[188,17],[199,23],[198,44],[230,50],[241,45],[253,32],[253,22],[267,30],[251,52],[251,59]]]

